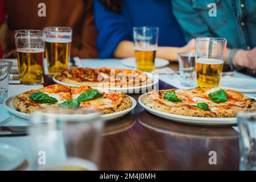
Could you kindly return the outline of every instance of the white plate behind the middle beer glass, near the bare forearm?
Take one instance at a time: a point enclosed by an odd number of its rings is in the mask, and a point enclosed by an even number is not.
[[[121,63],[125,65],[126,67],[136,67],[136,60],[135,57],[129,57],[121,60]],[[166,59],[155,59],[155,68],[162,68],[169,64],[169,61]]]

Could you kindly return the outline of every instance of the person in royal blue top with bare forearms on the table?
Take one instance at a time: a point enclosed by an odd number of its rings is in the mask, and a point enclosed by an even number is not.
[[[97,48],[101,58],[134,56],[133,27],[159,27],[156,57],[176,61],[178,52],[189,52],[169,0],[96,0],[94,19],[98,29]]]

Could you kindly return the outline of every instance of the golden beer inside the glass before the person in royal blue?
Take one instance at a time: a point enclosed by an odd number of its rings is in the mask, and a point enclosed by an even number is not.
[[[156,49],[136,49],[136,67],[139,71],[152,72],[155,69]]]

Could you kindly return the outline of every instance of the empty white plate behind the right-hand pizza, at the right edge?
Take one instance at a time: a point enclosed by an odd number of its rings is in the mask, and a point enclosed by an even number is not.
[[[220,87],[237,92],[254,93],[256,92],[256,78],[221,78]]]

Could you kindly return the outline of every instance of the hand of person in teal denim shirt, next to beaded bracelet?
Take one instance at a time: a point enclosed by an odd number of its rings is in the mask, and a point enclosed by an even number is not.
[[[236,64],[240,67],[246,67],[256,70],[256,47],[249,50],[240,50],[235,57]]]

